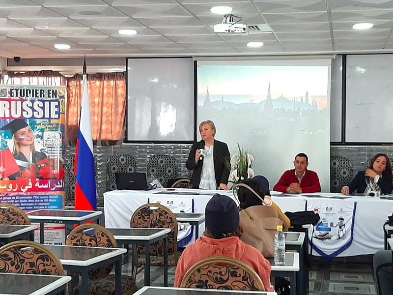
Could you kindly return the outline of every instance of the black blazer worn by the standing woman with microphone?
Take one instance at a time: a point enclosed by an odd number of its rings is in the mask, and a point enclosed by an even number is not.
[[[197,149],[203,148],[200,142],[194,143],[191,148],[190,154],[188,155],[188,159],[186,162],[186,167],[188,170],[193,170],[194,173],[191,177],[190,183],[195,187],[199,187],[200,182],[200,173],[202,172],[203,158],[199,160],[197,165],[195,165],[195,153]],[[214,174],[216,176],[217,186],[220,186],[220,183],[227,184],[229,177],[229,170],[225,166],[224,159],[230,159],[230,153],[228,146],[220,142],[218,140],[214,140],[213,144],[213,160],[214,160]]]

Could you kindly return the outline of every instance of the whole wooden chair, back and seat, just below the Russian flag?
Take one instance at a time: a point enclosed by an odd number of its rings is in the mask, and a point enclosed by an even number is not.
[[[111,232],[98,224],[84,224],[75,228],[67,237],[66,245],[117,248],[116,240]],[[113,264],[100,266],[89,271],[88,294],[114,295],[115,275],[110,274]],[[71,283],[71,282],[70,282]],[[68,285],[70,294],[81,294],[81,284],[74,289]],[[130,295],[137,291],[132,276],[121,276],[121,294]]]

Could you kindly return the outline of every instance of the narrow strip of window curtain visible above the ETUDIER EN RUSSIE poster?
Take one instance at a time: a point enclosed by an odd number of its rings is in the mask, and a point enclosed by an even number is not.
[[[51,70],[23,73],[7,71],[4,75],[4,84],[7,85],[64,86],[65,83],[66,78],[60,72]]]

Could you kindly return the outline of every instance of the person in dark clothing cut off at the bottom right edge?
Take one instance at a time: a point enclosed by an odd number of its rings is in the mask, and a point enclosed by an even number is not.
[[[392,250],[380,250],[375,253],[373,264],[377,295],[392,295]]]

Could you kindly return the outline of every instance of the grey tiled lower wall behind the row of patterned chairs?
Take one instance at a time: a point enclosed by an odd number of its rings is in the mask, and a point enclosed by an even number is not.
[[[106,191],[106,163],[113,153],[126,153],[132,155],[137,161],[137,172],[146,172],[147,159],[156,154],[172,155],[178,163],[178,177],[187,177],[188,170],[185,166],[191,145],[158,145],[158,144],[123,144],[120,147],[94,147],[94,155],[97,162],[97,190],[99,195],[98,204],[103,203],[103,194]],[[343,156],[348,158],[354,168],[354,175],[364,170],[366,160],[372,158],[376,153],[386,153],[393,158],[393,146],[332,146],[330,154],[332,156]],[[75,147],[65,148],[65,158],[68,160],[71,154],[75,153]],[[67,179],[67,176],[66,176]],[[67,181],[66,181],[67,185]],[[66,196],[66,200],[73,197]],[[71,205],[73,202],[69,202]]]

